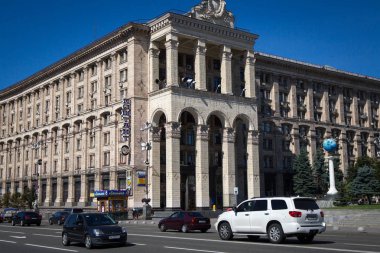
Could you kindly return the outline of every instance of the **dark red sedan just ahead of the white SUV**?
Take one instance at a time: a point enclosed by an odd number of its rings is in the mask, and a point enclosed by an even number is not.
[[[200,230],[202,233],[211,228],[210,219],[204,217],[199,212],[175,212],[168,218],[162,219],[158,223],[158,228],[165,232],[168,229],[187,233],[191,230]]]

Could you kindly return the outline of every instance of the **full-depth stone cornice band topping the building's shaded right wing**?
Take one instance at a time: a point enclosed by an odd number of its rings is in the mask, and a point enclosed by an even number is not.
[[[261,68],[273,68],[272,66],[282,67],[284,69],[289,69],[293,75],[295,74],[309,74],[314,73],[317,76],[322,76],[321,78],[331,79],[332,82],[337,82],[339,84],[340,81],[346,82],[366,82],[375,85],[380,84],[380,79],[359,75],[347,71],[338,70],[328,66],[321,66],[316,64],[310,64],[306,62],[291,60],[279,56],[269,55],[265,53],[255,53],[256,59],[256,70],[260,70]],[[273,69],[275,70],[275,69]],[[297,70],[297,71],[294,71]]]

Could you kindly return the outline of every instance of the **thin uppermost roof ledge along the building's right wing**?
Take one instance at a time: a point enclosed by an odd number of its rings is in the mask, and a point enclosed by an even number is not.
[[[297,65],[297,66],[300,66],[303,68],[310,68],[312,70],[319,71],[319,72],[322,71],[322,72],[329,73],[329,74],[337,74],[337,75],[340,75],[340,76],[343,76],[346,78],[356,78],[356,79],[364,79],[365,81],[380,82],[380,79],[376,78],[376,77],[370,77],[370,76],[356,74],[356,73],[352,73],[352,72],[348,72],[348,71],[344,71],[344,70],[339,70],[339,69],[336,69],[336,68],[333,68],[333,67],[330,67],[327,65],[322,66],[322,65],[292,60],[289,58],[275,56],[275,55],[266,54],[266,53],[262,53],[262,52],[255,52],[255,58],[258,60],[268,60],[271,62],[277,61],[279,63],[281,62],[281,63],[285,63],[285,64],[293,64],[293,65]]]

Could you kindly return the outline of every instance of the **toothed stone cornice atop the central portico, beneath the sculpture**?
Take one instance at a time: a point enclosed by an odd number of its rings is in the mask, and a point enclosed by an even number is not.
[[[179,15],[175,13],[167,13],[150,23],[148,25],[151,27],[151,33],[154,34],[159,30],[171,25],[174,28],[176,26],[189,27],[192,29],[196,29],[202,32],[206,32],[208,34],[214,34],[215,36],[222,36],[231,38],[237,41],[243,41],[250,45],[255,44],[255,40],[259,37],[256,34],[252,34],[243,30],[233,29],[221,25],[216,25],[211,22],[191,18],[184,15]]]

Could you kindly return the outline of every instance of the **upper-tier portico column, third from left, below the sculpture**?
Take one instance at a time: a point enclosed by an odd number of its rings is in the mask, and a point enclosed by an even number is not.
[[[207,90],[206,87],[206,42],[198,39],[195,45],[195,89]]]

